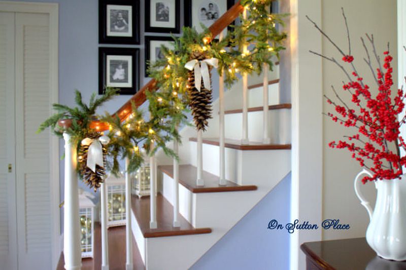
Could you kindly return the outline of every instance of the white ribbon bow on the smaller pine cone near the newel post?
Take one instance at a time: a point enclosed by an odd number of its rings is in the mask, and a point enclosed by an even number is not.
[[[85,138],[82,140],[83,145],[89,145],[86,166],[93,172],[96,172],[96,164],[104,167],[103,146],[101,144],[106,145],[109,141],[110,138],[108,136],[101,136],[97,139]]]

